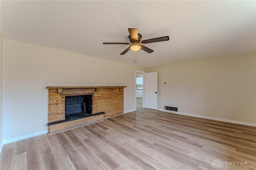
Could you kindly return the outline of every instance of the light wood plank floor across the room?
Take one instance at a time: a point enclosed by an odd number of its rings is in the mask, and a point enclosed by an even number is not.
[[[256,169],[256,127],[143,109],[4,145],[1,170]]]

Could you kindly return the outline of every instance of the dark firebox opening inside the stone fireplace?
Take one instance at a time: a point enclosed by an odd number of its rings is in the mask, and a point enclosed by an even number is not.
[[[92,95],[66,96],[65,120],[74,120],[92,115]]]

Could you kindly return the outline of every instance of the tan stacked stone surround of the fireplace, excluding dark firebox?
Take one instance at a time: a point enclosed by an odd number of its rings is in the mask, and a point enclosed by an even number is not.
[[[48,133],[50,134],[100,121],[108,117],[122,115],[124,113],[124,87],[126,86],[47,87],[49,93],[48,123],[65,120],[66,96],[92,95],[92,114],[106,113],[104,115],[50,125],[48,126]]]

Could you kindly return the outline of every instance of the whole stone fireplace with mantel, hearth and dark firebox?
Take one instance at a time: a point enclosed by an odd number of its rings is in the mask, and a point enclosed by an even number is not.
[[[47,87],[48,134],[122,115],[124,87]]]

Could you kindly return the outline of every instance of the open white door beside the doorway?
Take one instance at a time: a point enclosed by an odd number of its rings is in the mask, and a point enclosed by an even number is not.
[[[157,109],[157,72],[144,73],[144,108]]]

